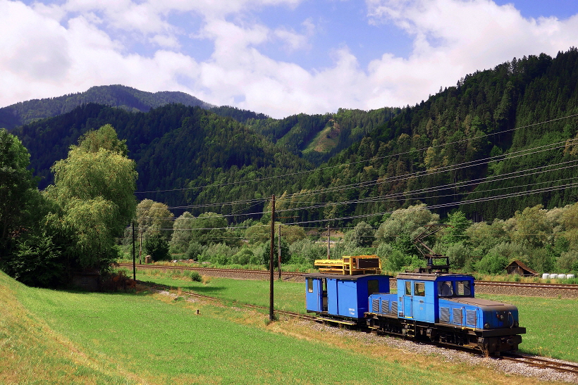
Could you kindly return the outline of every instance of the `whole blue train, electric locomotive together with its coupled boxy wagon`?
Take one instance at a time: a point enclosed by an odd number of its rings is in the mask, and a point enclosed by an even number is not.
[[[305,274],[307,312],[323,322],[367,326],[376,333],[474,348],[515,351],[526,329],[514,305],[475,298],[474,277],[406,272],[397,293],[380,274]]]

